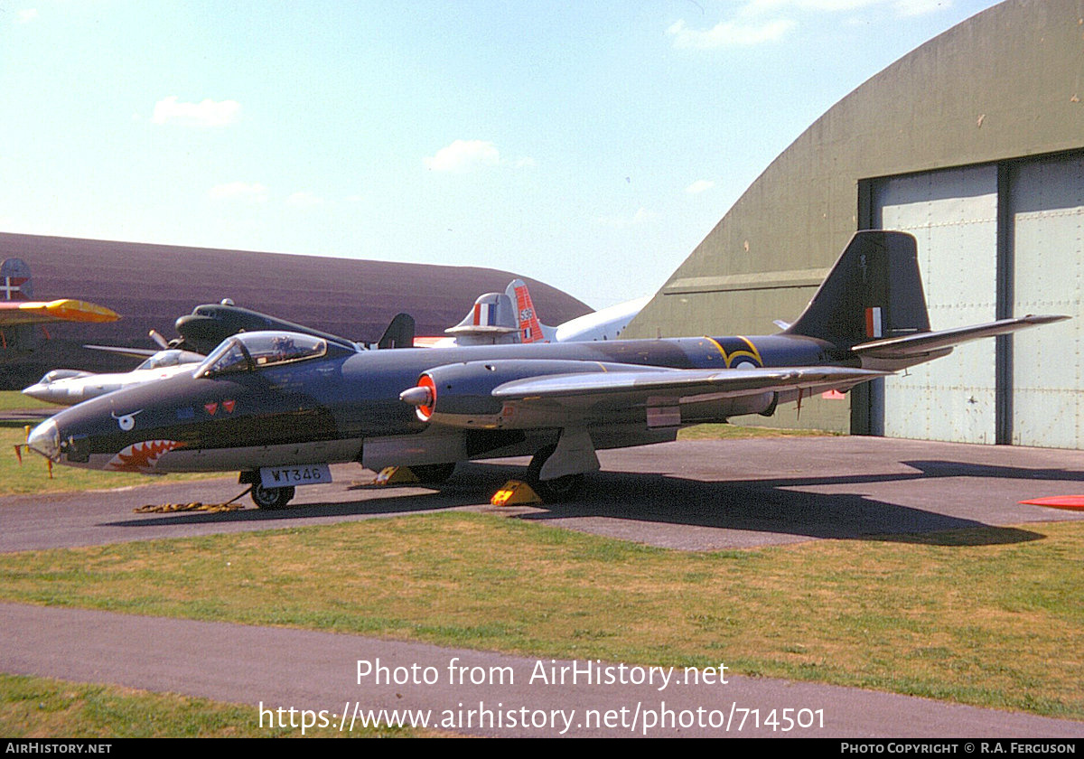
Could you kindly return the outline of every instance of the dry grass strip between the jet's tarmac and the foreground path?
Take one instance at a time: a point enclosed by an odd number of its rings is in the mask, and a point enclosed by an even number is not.
[[[0,599],[718,666],[1084,720],[1084,523],[683,553],[444,513],[0,555]],[[328,582],[327,578],[336,578]]]

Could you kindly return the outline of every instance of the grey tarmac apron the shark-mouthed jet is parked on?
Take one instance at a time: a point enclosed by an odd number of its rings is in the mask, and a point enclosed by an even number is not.
[[[441,489],[370,487],[373,473],[333,467],[330,485],[301,487],[281,511],[136,514],[146,504],[228,501],[235,477],[0,498],[0,551],[177,538],[395,517],[451,509],[544,520],[676,550],[994,527],[998,542],[1029,540],[1020,525],[1084,519],[1084,512],[1021,500],[1084,493],[1084,451],[873,437],[679,441],[601,451],[603,471],[564,504],[498,509],[490,496],[520,465],[461,464]],[[1015,527],[1014,527],[1015,526]]]

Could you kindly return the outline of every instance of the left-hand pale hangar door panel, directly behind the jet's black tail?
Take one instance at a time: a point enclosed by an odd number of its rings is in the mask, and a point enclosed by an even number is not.
[[[878,180],[875,227],[911,232],[930,325],[944,330],[995,319],[997,167],[971,166]],[[885,381],[885,435],[989,442],[996,434],[994,340]]]

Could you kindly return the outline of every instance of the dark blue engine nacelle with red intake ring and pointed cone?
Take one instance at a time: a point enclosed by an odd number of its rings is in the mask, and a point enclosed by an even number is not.
[[[516,428],[508,404],[492,396],[493,388],[525,377],[641,369],[597,361],[467,361],[430,369],[417,385],[399,398],[416,407],[417,417],[451,427]],[[526,422],[524,422],[526,423]]]

